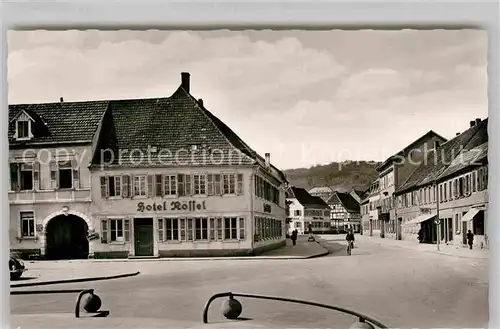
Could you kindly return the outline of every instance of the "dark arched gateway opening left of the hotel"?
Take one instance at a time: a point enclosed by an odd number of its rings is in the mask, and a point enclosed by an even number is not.
[[[75,215],[52,218],[46,228],[48,259],[86,259],[89,254],[88,226]]]

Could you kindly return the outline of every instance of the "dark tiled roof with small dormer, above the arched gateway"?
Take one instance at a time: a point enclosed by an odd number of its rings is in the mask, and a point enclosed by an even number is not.
[[[9,145],[91,143],[107,106],[106,101],[9,105]],[[28,141],[14,138],[15,118],[22,111],[33,119],[34,137]]]

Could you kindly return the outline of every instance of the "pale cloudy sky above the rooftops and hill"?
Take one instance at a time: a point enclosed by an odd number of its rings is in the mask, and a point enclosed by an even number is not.
[[[191,94],[280,169],[383,161],[488,116],[487,32],[9,31],[9,103]]]

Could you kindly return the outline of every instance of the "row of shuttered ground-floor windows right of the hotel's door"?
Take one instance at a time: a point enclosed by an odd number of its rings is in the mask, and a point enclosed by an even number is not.
[[[158,239],[160,242],[244,240],[245,218],[159,218]]]

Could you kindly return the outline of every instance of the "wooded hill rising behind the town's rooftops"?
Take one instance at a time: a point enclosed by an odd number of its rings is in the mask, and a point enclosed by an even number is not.
[[[347,192],[352,188],[364,189],[378,176],[375,168],[380,162],[332,162],[311,168],[288,169],[284,173],[289,182],[307,190],[316,186],[330,186],[336,191]]]

